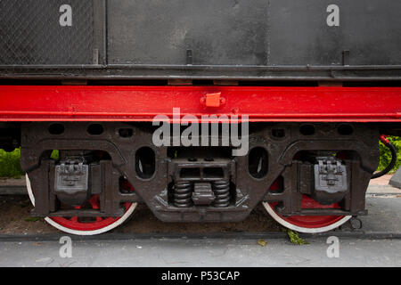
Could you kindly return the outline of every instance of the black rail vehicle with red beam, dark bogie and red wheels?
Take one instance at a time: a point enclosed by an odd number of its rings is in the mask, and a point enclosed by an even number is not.
[[[366,215],[401,135],[397,0],[0,1],[0,148],[33,216],[110,231],[237,222],[262,203],[325,232]],[[393,159],[394,160],[394,159]]]

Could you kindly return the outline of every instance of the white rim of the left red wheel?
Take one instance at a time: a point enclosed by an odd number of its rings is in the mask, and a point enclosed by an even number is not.
[[[29,199],[32,203],[33,206],[35,206],[35,196],[33,194],[32,191],[32,187],[30,185],[30,180],[29,180],[29,176],[25,175],[25,178],[27,180],[27,189],[28,189],[28,195],[29,195]],[[61,224],[57,224],[56,222],[54,222],[50,217],[46,216],[45,217],[45,221],[51,225],[53,225],[53,227],[57,228],[58,230],[62,231],[62,232],[68,232],[71,234],[76,234],[76,235],[95,235],[95,234],[100,234],[103,232],[108,232],[116,227],[118,227],[120,224],[123,224],[127,218],[129,216],[131,216],[131,214],[134,212],[136,206],[138,203],[132,203],[131,206],[127,209],[126,213],[124,213],[123,216],[121,216],[116,222],[114,222],[113,224],[109,224],[105,227],[103,227],[102,229],[98,229],[98,230],[93,230],[93,231],[78,231],[78,230],[72,230],[70,228],[67,228],[65,226],[62,226]]]

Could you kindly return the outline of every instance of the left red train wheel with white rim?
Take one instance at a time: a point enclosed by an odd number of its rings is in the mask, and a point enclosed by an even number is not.
[[[35,206],[35,196],[33,194],[28,175],[26,175],[26,180],[29,199],[32,202],[32,205]],[[99,208],[98,195],[93,195],[90,199],[87,200],[87,202],[92,208]],[[68,232],[76,235],[95,235],[103,232],[108,232],[116,228],[120,224],[123,224],[133,214],[136,205],[137,203],[124,203],[125,213],[123,216],[97,216],[94,221],[86,223],[78,221],[78,216],[73,216],[70,218],[61,216],[47,216],[45,217],[45,221],[53,225],[53,227],[61,230],[62,232]]]

